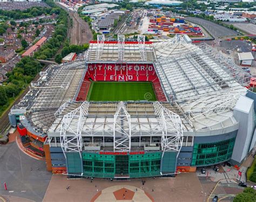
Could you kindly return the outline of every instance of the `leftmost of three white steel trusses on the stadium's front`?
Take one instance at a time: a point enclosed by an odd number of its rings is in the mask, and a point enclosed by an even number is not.
[[[76,151],[80,154],[82,151],[83,142],[81,133],[88,109],[89,102],[85,101],[80,107],[63,116],[60,128],[60,143],[64,155],[65,152]]]

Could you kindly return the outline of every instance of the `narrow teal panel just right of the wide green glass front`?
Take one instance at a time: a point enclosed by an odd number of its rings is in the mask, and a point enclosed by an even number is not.
[[[175,173],[177,152],[165,151],[161,162],[161,172],[163,174]]]

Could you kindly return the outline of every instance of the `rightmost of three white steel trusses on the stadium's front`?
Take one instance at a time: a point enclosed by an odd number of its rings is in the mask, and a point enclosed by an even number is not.
[[[163,133],[161,137],[163,156],[165,151],[176,151],[179,154],[183,143],[183,129],[179,115],[166,109],[159,102],[154,102],[154,109]]]

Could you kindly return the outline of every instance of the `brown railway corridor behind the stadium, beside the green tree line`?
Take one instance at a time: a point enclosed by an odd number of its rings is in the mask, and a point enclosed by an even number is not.
[[[92,32],[89,25],[78,16],[77,12],[69,12],[73,21],[73,26],[70,30],[70,44],[83,45],[92,40]]]

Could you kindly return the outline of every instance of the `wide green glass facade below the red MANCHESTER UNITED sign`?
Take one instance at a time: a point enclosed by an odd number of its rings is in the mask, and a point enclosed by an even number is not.
[[[84,176],[150,177],[160,175],[161,152],[148,152],[143,155],[103,155],[83,152]]]

